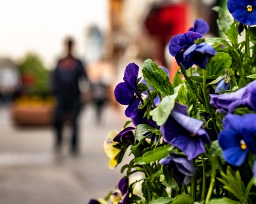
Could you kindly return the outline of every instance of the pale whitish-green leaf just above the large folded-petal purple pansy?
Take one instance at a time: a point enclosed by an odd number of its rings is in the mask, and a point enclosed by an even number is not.
[[[154,110],[150,111],[150,115],[157,125],[163,125],[165,121],[167,121],[170,112],[173,110],[177,96],[178,93],[175,93],[172,96],[164,97],[160,105]]]

